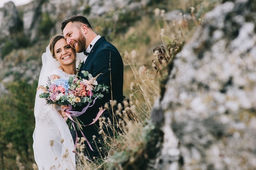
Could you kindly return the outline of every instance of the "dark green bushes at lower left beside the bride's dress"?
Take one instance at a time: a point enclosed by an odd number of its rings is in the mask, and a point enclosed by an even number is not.
[[[7,85],[8,94],[0,97],[0,167],[18,170],[16,158],[26,170],[32,169],[34,98],[37,82],[16,81]]]

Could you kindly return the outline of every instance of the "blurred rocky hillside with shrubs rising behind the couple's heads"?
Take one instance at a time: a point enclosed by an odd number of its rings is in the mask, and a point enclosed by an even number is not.
[[[50,37],[61,32],[61,22],[66,18],[90,18],[94,30],[111,41],[110,35],[115,36],[117,29],[124,31],[143,13],[152,12],[151,1],[33,0],[18,7],[7,2],[0,8],[0,94],[5,91],[2,83],[38,79],[40,56]]]

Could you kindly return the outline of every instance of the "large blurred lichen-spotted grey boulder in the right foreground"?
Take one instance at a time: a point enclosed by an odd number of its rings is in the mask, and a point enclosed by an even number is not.
[[[173,63],[152,121],[159,170],[256,169],[256,1],[208,12]]]

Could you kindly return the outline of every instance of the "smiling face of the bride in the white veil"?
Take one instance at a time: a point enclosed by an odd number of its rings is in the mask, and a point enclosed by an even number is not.
[[[70,65],[76,62],[76,52],[64,38],[61,38],[54,45],[54,56],[61,65]]]

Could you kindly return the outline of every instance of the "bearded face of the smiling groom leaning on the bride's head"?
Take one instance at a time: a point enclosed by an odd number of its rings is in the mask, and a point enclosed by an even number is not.
[[[67,44],[74,48],[77,53],[85,51],[86,38],[77,27],[77,23],[67,23],[63,29],[63,34],[67,40]]]

